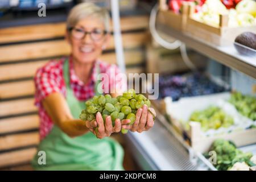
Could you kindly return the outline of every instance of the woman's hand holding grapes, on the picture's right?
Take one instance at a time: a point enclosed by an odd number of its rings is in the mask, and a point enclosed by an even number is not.
[[[138,133],[151,129],[151,127],[154,126],[156,113],[152,107],[150,107],[150,111],[148,111],[147,105],[143,105],[142,108],[137,110],[136,119],[133,125],[123,125],[122,128],[133,132],[138,131]],[[154,116],[152,114],[154,114]]]

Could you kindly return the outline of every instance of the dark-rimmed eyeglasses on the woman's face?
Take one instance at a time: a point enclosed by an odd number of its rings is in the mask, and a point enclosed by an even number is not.
[[[81,28],[76,28],[76,27],[68,28],[68,31],[71,32],[71,35],[73,38],[79,39],[79,40],[84,39],[85,36],[89,34],[90,38],[93,41],[97,41],[104,38],[104,36],[108,33],[108,31],[100,30],[100,29],[94,29],[93,31],[88,32],[88,31],[82,30]]]

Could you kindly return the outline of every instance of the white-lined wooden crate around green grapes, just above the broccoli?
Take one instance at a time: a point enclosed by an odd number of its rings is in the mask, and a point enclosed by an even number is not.
[[[177,133],[183,135],[184,140],[187,140],[187,142],[196,152],[202,153],[207,151],[210,145],[217,138],[232,140],[234,143],[236,143],[238,147],[256,143],[256,129],[238,130],[232,133],[217,134],[212,135],[210,137],[207,137],[202,134],[203,132],[201,131],[201,125],[199,122],[190,121],[189,130],[185,129],[184,125],[182,125],[180,122],[180,118],[177,118],[177,115],[179,115],[179,113],[177,112],[179,111],[182,112],[184,115],[188,113],[188,108],[185,105],[190,105],[189,107],[193,108],[193,105],[190,103],[193,102],[195,104],[199,103],[200,107],[205,107],[206,105],[208,105],[208,102],[214,103],[217,101],[218,98],[226,100],[227,98],[229,98],[229,93],[212,94],[209,96],[198,96],[193,97],[193,101],[189,101],[189,99],[191,98],[186,98],[175,103],[172,103],[170,100],[166,98],[162,105],[166,107],[166,115],[170,118],[172,127],[177,131]],[[189,101],[189,103],[187,101]],[[177,107],[183,108],[183,110],[177,110]],[[170,112],[170,110],[172,111]],[[177,113],[177,115],[175,115],[175,112]]]

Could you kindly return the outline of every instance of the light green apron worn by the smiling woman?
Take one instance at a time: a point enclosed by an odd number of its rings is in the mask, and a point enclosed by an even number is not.
[[[69,61],[64,62],[64,80],[67,89],[67,103],[74,118],[79,118],[85,101],[78,101],[73,95],[69,83]],[[99,66],[96,65],[97,73]],[[95,84],[94,93],[98,95]],[[46,152],[46,164],[39,164],[39,151]],[[36,170],[123,170],[123,148],[118,142],[105,137],[98,139],[92,132],[80,137],[70,138],[59,127],[53,125],[51,132],[38,147],[38,152],[32,160]]]

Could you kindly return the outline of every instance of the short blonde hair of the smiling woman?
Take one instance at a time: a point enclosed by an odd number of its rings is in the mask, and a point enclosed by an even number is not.
[[[94,5],[94,3],[79,3],[78,5],[74,6],[72,10],[68,14],[67,19],[67,30],[76,26],[79,20],[86,18],[88,16],[94,16],[100,18],[104,23],[106,31],[110,31],[110,24],[109,24],[109,13],[106,9],[101,8],[99,6]]]

